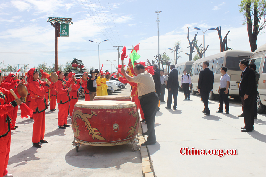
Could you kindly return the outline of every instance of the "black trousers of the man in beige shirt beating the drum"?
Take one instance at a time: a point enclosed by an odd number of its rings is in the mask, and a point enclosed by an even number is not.
[[[149,136],[147,141],[156,141],[154,121],[159,104],[159,98],[156,93],[140,98],[140,106],[143,110]]]

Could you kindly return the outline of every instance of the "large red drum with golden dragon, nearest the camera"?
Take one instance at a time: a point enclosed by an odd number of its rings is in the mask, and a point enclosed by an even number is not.
[[[81,101],[75,104],[72,130],[75,140],[92,146],[114,146],[134,141],[140,120],[130,101]]]

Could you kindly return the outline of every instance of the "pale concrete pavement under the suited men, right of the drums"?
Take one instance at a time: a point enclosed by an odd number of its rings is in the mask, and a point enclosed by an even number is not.
[[[230,114],[225,114],[215,113],[218,101],[209,101],[211,115],[205,116],[199,94],[191,95],[190,101],[183,98],[184,93],[179,92],[177,110],[173,110],[173,104],[172,109],[165,109],[165,102],[156,114],[157,143],[147,146],[156,176],[265,176],[265,114],[258,114],[253,132],[241,132],[244,118],[237,117],[242,113],[240,102],[231,101]],[[144,123],[142,126],[147,131]],[[237,155],[181,155],[183,147],[236,149]]]

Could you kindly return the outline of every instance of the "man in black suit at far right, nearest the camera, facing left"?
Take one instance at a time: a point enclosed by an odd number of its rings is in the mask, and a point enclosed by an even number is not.
[[[256,76],[248,65],[249,60],[241,60],[239,63],[239,68],[243,71],[239,84],[245,122],[245,127],[241,128],[242,132],[252,132],[254,129],[254,101],[257,96]]]

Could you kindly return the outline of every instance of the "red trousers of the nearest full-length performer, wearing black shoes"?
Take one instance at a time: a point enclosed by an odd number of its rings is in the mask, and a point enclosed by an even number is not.
[[[32,142],[38,143],[44,138],[45,129],[45,111],[32,114],[34,123],[32,128]]]

